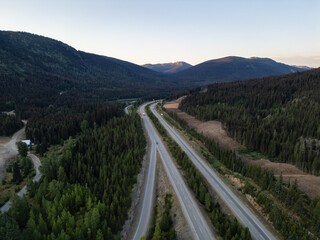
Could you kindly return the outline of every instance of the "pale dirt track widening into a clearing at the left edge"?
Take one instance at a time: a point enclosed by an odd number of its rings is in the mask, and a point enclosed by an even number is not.
[[[26,121],[23,121],[26,124]],[[24,135],[25,126],[17,131],[10,138],[3,138],[3,141],[0,141],[0,181],[6,173],[6,168],[10,164],[11,160],[18,155],[18,147],[16,142],[20,141]],[[8,141],[9,140],[9,141]]]

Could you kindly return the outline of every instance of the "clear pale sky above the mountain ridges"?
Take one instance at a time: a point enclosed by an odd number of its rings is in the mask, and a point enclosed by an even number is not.
[[[0,0],[0,30],[136,64],[255,56],[320,67],[320,0]]]

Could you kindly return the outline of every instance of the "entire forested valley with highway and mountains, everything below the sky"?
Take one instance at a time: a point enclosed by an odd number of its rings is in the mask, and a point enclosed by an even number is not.
[[[320,69],[201,61],[1,30],[0,238],[318,239]]]

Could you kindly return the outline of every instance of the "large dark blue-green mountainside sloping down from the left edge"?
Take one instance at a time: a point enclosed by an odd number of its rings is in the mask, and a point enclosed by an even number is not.
[[[160,73],[144,67],[77,51],[50,38],[8,31],[0,31],[0,83],[0,109],[75,98],[161,96],[174,88]]]

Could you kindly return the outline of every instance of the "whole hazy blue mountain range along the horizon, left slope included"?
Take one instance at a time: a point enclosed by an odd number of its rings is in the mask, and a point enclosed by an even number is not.
[[[185,62],[149,65],[156,71],[147,67],[78,51],[47,37],[0,31],[0,110],[23,104],[160,98],[214,82],[301,71],[267,58],[241,57],[196,66]]]

